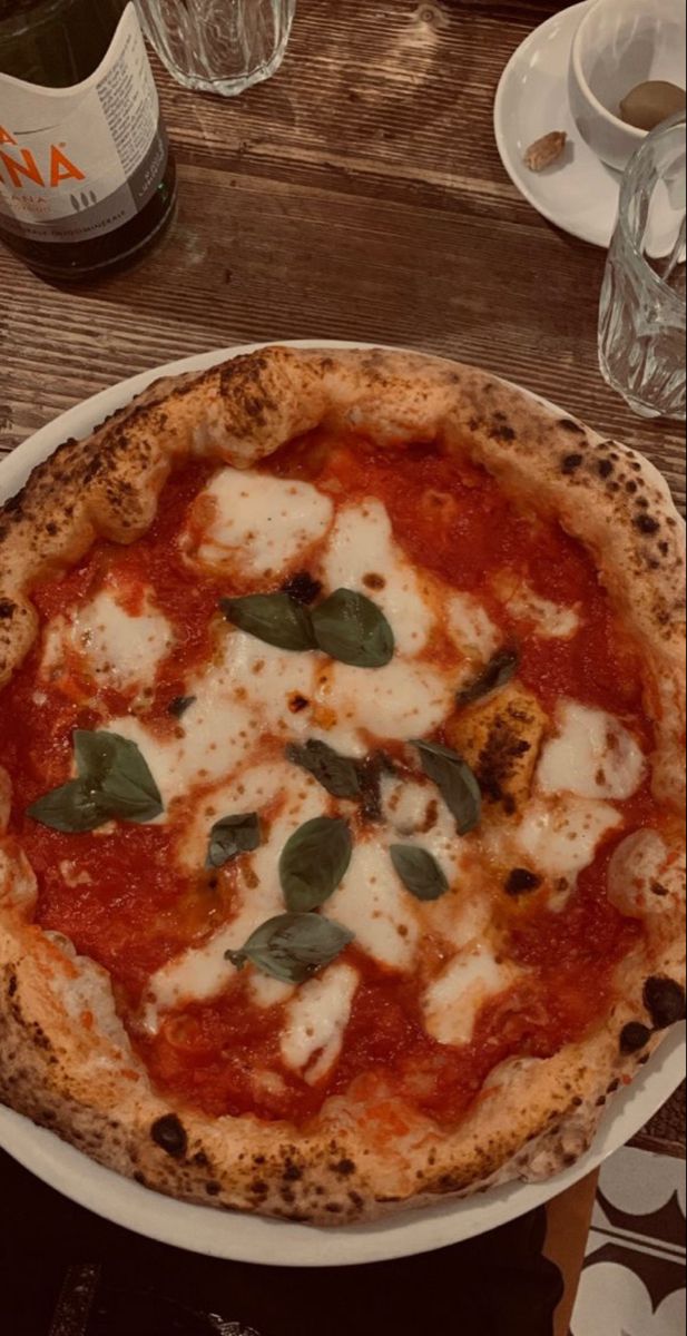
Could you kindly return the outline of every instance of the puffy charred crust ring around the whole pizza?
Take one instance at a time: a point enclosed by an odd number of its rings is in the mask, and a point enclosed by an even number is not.
[[[591,549],[643,648],[654,791],[679,810],[684,542],[666,482],[647,460],[531,395],[414,354],[267,349],[159,381],[86,441],[63,445],[0,510],[0,689],[37,633],[32,585],[75,564],[98,537],[135,541],[179,462],[202,456],[250,466],[321,424],[353,426],[389,450],[440,440]],[[515,1059],[493,1071],[457,1132],[442,1133],[380,1090],[366,1102],[330,1100],[310,1129],[213,1121],[155,1093],[107,974],[31,925],[31,871],[3,830],[0,1098],[102,1164],[184,1200],[339,1224],[548,1177],[588,1146],[608,1093],[648,1059],[671,1005],[679,1018],[682,880],[670,908],[646,916],[643,945],[619,966],[617,1002],[596,1033],[545,1062]]]

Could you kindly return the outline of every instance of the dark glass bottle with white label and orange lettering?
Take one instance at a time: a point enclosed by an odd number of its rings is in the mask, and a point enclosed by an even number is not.
[[[174,200],[134,0],[0,0],[0,240],[83,282],[138,258]]]

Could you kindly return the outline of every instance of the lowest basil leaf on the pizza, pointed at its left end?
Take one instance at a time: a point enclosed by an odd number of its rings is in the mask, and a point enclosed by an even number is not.
[[[241,951],[225,958],[238,969],[250,961],[262,974],[285,983],[305,983],[331,965],[354,934],[319,914],[279,914],[249,937]]]

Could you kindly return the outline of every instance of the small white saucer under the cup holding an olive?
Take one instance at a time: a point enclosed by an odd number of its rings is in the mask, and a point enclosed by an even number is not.
[[[568,103],[572,39],[589,3],[563,9],[525,37],[501,75],[493,122],[501,162],[520,194],[551,223],[608,247],[622,178],[584,143]],[[524,154],[552,130],[568,134],[564,155],[547,171],[529,171]]]

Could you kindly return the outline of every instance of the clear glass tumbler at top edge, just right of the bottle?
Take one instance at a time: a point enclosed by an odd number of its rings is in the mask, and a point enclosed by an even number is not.
[[[138,0],[146,33],[184,88],[233,98],[279,68],[295,0]]]

